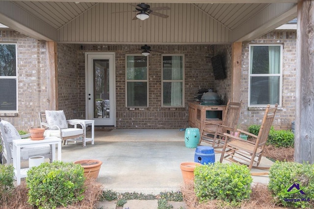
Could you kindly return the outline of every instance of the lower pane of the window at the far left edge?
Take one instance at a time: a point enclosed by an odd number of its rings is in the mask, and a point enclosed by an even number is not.
[[[0,110],[16,109],[16,79],[0,79]]]

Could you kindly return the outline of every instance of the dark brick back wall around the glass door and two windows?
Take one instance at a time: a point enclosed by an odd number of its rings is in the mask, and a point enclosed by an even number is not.
[[[161,108],[161,55],[149,55],[149,107],[125,107],[125,54],[136,45],[81,45],[78,51],[78,73],[81,75],[78,82],[81,84],[78,92],[79,98],[85,98],[83,83],[85,77],[84,52],[108,51],[115,52],[116,57],[116,126],[117,128],[186,128],[188,127],[188,102],[201,88],[213,88],[219,83],[213,79],[210,57],[214,50],[209,45],[150,45],[153,49],[164,51],[164,54],[183,54],[185,64],[184,108]],[[216,46],[228,48],[224,45]],[[229,70],[230,71],[230,70]],[[82,88],[82,89],[81,89]],[[85,104],[78,109],[85,113]]]

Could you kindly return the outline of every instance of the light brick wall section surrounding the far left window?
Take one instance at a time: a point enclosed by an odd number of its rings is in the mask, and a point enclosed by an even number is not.
[[[47,102],[46,43],[17,31],[0,31],[0,42],[17,44],[18,112],[0,112],[0,117],[19,130],[39,126],[38,112]],[[5,91],[5,90],[0,90]]]

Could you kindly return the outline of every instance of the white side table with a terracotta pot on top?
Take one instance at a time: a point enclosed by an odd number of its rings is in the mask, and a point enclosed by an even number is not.
[[[55,145],[58,145],[58,161],[61,161],[61,139],[57,137],[46,137],[43,140],[15,139],[13,140],[13,167],[16,176],[16,184],[21,184],[21,178],[27,176],[29,168],[21,169],[21,148],[37,145],[52,145],[52,161],[55,161]]]

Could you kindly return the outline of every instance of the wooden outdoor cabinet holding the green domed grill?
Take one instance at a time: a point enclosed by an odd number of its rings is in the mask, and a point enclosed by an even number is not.
[[[188,124],[190,127],[202,130],[203,121],[222,124],[226,105],[200,105],[198,102],[188,103]]]

